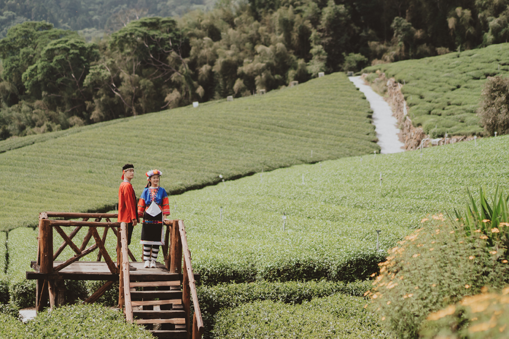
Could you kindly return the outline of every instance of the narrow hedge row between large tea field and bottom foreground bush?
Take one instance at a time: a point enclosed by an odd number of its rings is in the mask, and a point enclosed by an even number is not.
[[[300,304],[314,298],[335,293],[361,296],[369,288],[369,282],[256,282],[250,284],[220,284],[200,286],[198,297],[207,332],[214,326],[215,315],[221,309],[232,309],[252,301],[272,300],[289,304]]]

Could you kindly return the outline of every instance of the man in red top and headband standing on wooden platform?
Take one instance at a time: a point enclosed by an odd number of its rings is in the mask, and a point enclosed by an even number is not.
[[[122,183],[119,188],[119,223],[127,224],[127,244],[131,243],[132,230],[139,222],[137,212],[137,199],[132,187],[131,180],[134,178],[134,166],[125,164],[122,167]],[[136,267],[129,265],[129,270],[134,271]]]

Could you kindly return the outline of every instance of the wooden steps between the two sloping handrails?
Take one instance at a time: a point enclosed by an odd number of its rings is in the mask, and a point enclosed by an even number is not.
[[[180,280],[154,281],[157,279],[155,274],[133,273],[130,274],[129,288],[134,321],[144,325],[157,338],[187,339],[186,321],[189,324],[189,320],[183,309]],[[179,279],[179,275],[182,277],[181,274],[171,274],[169,278]]]

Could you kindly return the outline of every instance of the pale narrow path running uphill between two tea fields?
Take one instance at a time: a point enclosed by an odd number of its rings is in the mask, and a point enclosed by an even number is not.
[[[360,76],[348,77],[348,79],[359,88],[366,96],[367,101],[370,102],[371,109],[373,110],[373,124],[377,132],[378,145],[381,148],[380,153],[403,152],[404,149],[402,147],[404,147],[405,144],[401,142],[398,137],[400,133],[400,129],[396,127],[398,120],[392,115],[389,104],[375,93],[370,86],[365,85]]]

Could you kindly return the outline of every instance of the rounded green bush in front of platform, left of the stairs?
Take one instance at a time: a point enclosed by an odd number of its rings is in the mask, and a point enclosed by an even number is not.
[[[25,338],[73,337],[153,338],[142,326],[126,322],[124,315],[98,304],[62,306],[44,311],[25,325]]]

